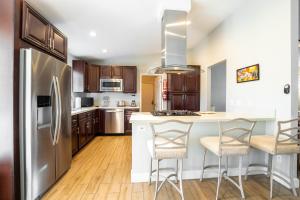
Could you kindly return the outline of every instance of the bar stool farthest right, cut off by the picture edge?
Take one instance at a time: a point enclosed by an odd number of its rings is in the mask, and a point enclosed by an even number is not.
[[[275,135],[257,135],[253,136],[250,141],[250,146],[268,154],[268,165],[248,164],[245,174],[245,179],[248,176],[249,167],[263,166],[266,170],[255,170],[264,172],[270,176],[270,199],[273,196],[273,178],[274,176],[290,185],[294,196],[297,196],[296,188],[293,181],[293,165],[294,155],[300,153],[300,139],[299,139],[299,119],[292,119],[288,121],[278,121],[278,131]],[[297,125],[294,125],[297,124]],[[293,132],[296,131],[296,132]],[[274,157],[277,155],[290,156],[290,177],[289,180],[274,172]],[[254,172],[254,171],[250,171]]]

